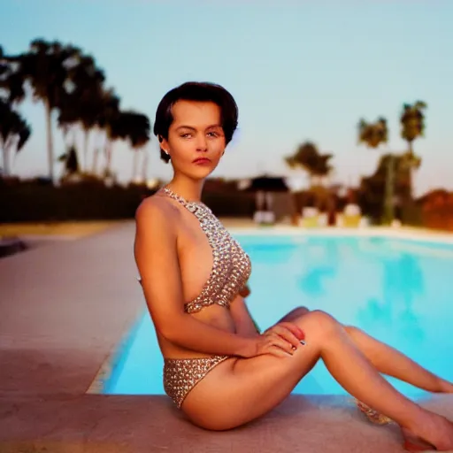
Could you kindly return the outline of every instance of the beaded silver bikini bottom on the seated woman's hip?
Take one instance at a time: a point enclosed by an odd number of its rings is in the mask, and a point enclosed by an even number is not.
[[[208,372],[229,356],[197,358],[165,358],[164,389],[180,408],[188,392],[206,376]]]

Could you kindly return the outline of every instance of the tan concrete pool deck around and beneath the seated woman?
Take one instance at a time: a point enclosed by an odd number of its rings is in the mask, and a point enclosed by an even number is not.
[[[0,453],[403,451],[395,426],[371,425],[341,396],[291,395],[249,426],[211,433],[166,396],[87,394],[145,309],[133,240],[125,222],[0,260]],[[453,418],[453,397],[423,404]]]

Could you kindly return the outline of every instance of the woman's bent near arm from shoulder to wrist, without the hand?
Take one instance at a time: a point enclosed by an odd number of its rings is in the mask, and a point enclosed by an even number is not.
[[[134,256],[157,331],[168,341],[208,354],[253,357],[256,340],[209,326],[184,312],[173,206],[149,198],[135,214]]]

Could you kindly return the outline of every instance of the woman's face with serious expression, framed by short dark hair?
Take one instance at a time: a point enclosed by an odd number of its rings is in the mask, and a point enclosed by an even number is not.
[[[225,150],[220,107],[211,102],[178,101],[173,105],[168,140],[160,145],[170,154],[175,172],[196,180],[206,178]]]

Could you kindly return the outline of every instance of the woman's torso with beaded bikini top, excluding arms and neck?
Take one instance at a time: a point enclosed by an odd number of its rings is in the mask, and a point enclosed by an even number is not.
[[[188,203],[168,190],[156,196],[168,198],[167,203],[177,210],[169,215],[177,228],[185,310],[203,323],[234,333],[228,303],[250,276],[250,258],[203,203]],[[157,340],[166,358],[208,356],[175,345],[158,333]]]

